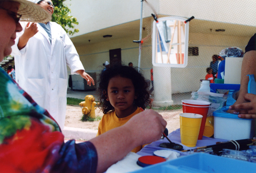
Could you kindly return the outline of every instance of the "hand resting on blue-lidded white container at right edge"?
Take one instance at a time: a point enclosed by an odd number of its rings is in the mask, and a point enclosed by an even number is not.
[[[247,93],[244,95],[244,100],[249,102],[231,105],[229,110],[232,110],[234,114],[238,114],[239,118],[256,118],[256,95]]]

